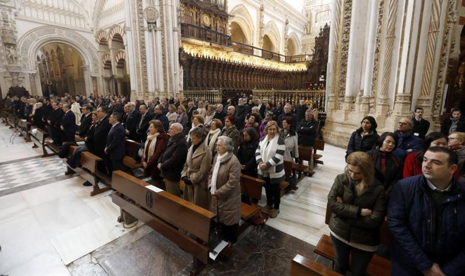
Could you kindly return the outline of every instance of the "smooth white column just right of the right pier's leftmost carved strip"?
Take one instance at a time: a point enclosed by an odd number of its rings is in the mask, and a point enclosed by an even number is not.
[[[368,1],[353,1],[350,21],[347,75],[345,78],[345,108],[352,109],[361,87]]]

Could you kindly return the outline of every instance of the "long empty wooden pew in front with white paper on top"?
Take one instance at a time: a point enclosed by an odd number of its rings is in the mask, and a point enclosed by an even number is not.
[[[116,190],[112,193],[114,204],[193,256],[191,275],[205,267],[209,260],[206,244],[210,240],[213,219],[216,217],[214,213],[167,191],[153,191],[153,185],[122,171],[113,171],[112,186]],[[131,198],[134,203],[123,195]]]

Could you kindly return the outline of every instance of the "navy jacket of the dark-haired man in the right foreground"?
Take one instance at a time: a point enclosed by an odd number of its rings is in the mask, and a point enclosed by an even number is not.
[[[442,204],[441,223],[432,237],[434,204],[423,174],[394,187],[387,218],[393,235],[391,257],[402,266],[429,269],[438,263],[445,275],[465,274],[465,184],[452,179],[452,195]]]

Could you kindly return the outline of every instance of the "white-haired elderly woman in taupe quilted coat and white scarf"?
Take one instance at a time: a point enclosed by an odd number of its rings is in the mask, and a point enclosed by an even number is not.
[[[240,162],[234,155],[234,142],[226,136],[218,137],[218,152],[213,159],[213,166],[208,177],[208,187],[212,194],[210,210],[218,214],[223,228],[224,238],[237,242],[240,203]]]

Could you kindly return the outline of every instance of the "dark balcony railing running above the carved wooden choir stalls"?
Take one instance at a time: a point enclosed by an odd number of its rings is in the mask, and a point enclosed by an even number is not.
[[[285,56],[279,53],[267,51],[254,46],[242,44],[231,40],[231,36],[202,28],[191,24],[181,24],[181,36],[185,38],[198,39],[221,46],[232,47],[234,52],[244,53],[264,59],[272,59],[284,63],[306,62],[312,60],[312,55],[302,54]]]

